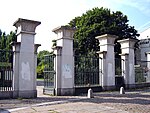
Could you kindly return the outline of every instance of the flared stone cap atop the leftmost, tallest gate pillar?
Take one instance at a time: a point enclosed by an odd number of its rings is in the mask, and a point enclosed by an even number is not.
[[[40,24],[41,22],[39,21],[19,18],[14,22],[13,26],[15,26],[17,28],[17,31],[19,30],[19,32],[35,33],[36,27]]]

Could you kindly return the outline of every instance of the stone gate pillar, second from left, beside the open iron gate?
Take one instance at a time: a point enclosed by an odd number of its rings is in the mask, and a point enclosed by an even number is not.
[[[56,95],[74,95],[74,28],[61,26],[53,30],[57,34],[56,46]]]

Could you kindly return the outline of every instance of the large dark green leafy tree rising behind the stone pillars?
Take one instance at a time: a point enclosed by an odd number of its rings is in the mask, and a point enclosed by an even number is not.
[[[69,23],[77,30],[74,34],[76,54],[92,54],[99,51],[96,36],[103,34],[116,35],[117,40],[136,38],[139,36],[133,26],[128,25],[127,16],[120,11],[111,12],[107,8],[93,8],[80,17],[75,17]],[[115,52],[120,53],[120,45],[115,41]]]

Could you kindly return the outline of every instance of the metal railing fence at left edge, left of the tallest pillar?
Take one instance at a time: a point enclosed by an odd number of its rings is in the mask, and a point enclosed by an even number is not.
[[[13,90],[13,52],[0,50],[0,91]]]

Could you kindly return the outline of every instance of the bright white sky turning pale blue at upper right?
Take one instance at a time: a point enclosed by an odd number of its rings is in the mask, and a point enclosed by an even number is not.
[[[51,51],[51,41],[56,38],[54,28],[94,7],[121,11],[139,33],[150,27],[150,0],[1,0],[0,3],[0,29],[7,34],[15,31],[13,23],[18,18],[41,22],[35,35],[35,43],[41,44],[38,51]]]

